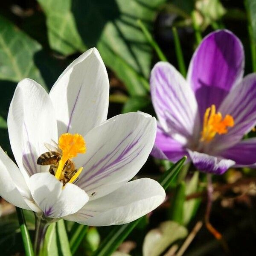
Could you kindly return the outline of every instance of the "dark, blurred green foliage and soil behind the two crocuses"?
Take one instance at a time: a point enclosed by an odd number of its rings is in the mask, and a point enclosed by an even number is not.
[[[213,17],[201,13],[199,26],[202,35],[212,30],[227,28],[242,41],[245,49],[245,74],[253,72],[251,61],[248,20],[241,0],[222,0]],[[248,1],[253,3],[253,1]],[[152,66],[159,58],[137,24],[141,20],[154,40],[178,67],[172,27],[176,26],[186,66],[195,50],[195,33],[191,13],[193,0],[8,0],[0,1],[0,145],[12,157],[6,118],[17,82],[29,77],[50,90],[58,76],[81,52],[97,47],[108,68],[111,85],[108,117],[129,111],[145,111],[154,115],[148,92],[148,79]],[[255,6],[250,11],[256,13]],[[220,9],[223,8],[224,12]],[[253,9],[255,8],[255,9]],[[214,8],[211,7],[211,10]],[[222,9],[221,9],[222,10]],[[202,12],[202,11],[201,11]],[[217,13],[217,14],[216,14]],[[255,23],[254,23],[255,25]],[[253,26],[255,29],[255,27]],[[256,37],[256,33],[253,31]],[[252,37],[253,38],[253,37]],[[249,136],[255,136],[251,132]],[[138,177],[157,178],[165,169],[163,162],[149,157]],[[195,170],[189,169],[185,181]],[[205,226],[201,228],[186,256],[254,255],[256,250],[255,170],[230,170],[221,177],[214,177],[215,201],[211,213],[212,225],[219,230],[227,243],[223,250]],[[184,183],[186,184],[186,183]],[[186,225],[189,232],[198,220],[204,219],[206,194],[205,177],[191,192],[198,199],[189,223],[177,218],[183,214],[187,195],[179,194],[177,180],[169,189],[168,201],[150,218],[140,222],[126,239],[135,247],[129,253],[141,255],[145,234],[160,222],[174,220]],[[185,186],[185,185],[184,185]],[[180,192],[181,193],[181,192]],[[178,196],[177,196],[178,194]],[[182,194],[182,193],[181,193]],[[178,198],[178,199],[177,199]],[[177,206],[177,200],[182,207]],[[1,201],[3,216],[0,218],[0,255],[23,255],[23,245],[14,210]],[[182,209],[181,209],[182,208]],[[25,212],[29,228],[33,216]],[[66,223],[71,232],[73,224]],[[110,228],[90,228],[77,255],[91,255]],[[175,230],[173,231],[175,232]],[[33,236],[33,233],[31,232]],[[69,235],[69,233],[68,233]],[[182,244],[184,239],[177,243]],[[128,243],[129,245],[129,243]],[[129,246],[126,247],[129,248]]]

